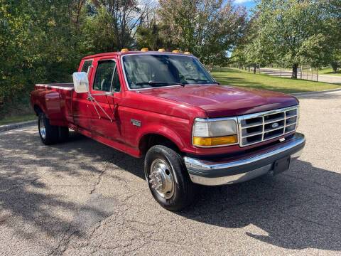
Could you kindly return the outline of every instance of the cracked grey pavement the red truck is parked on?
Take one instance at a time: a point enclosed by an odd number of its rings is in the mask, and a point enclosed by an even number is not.
[[[290,171],[200,188],[164,210],[142,161],[84,137],[0,134],[0,255],[340,255],[341,92],[301,96],[307,137]]]

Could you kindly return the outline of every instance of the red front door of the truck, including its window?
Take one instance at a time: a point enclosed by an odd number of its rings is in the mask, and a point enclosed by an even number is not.
[[[122,98],[121,83],[117,73],[117,59],[99,59],[94,61],[95,73],[90,82],[93,97],[92,133],[123,142],[123,129],[119,116]]]

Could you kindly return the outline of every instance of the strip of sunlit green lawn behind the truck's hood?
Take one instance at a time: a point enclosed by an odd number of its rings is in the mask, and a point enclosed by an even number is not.
[[[221,85],[235,85],[274,90],[279,92],[312,92],[330,89],[341,89],[341,85],[333,85],[326,82],[314,82],[308,80],[293,80],[291,78],[276,78],[271,75],[254,75],[237,69],[222,68],[220,71],[212,71],[212,75]]]

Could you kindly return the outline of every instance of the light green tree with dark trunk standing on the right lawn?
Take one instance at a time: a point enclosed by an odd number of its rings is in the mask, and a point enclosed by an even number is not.
[[[329,1],[323,0],[261,0],[257,4],[256,22],[262,28],[259,36],[264,38],[263,43],[271,47],[272,52],[277,53],[282,63],[291,65],[292,78],[297,78],[298,65],[307,53],[306,41],[316,39],[316,35],[330,38],[329,7]],[[322,42],[327,43],[328,40],[319,41]],[[310,47],[310,50],[314,49],[319,49],[320,53],[330,50],[321,45]]]

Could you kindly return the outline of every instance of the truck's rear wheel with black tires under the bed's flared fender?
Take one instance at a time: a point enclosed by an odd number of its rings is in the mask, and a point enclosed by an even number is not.
[[[51,145],[58,142],[59,139],[58,126],[50,125],[50,120],[45,116],[43,112],[39,113],[38,116],[38,132],[41,142],[43,142],[43,144]]]

